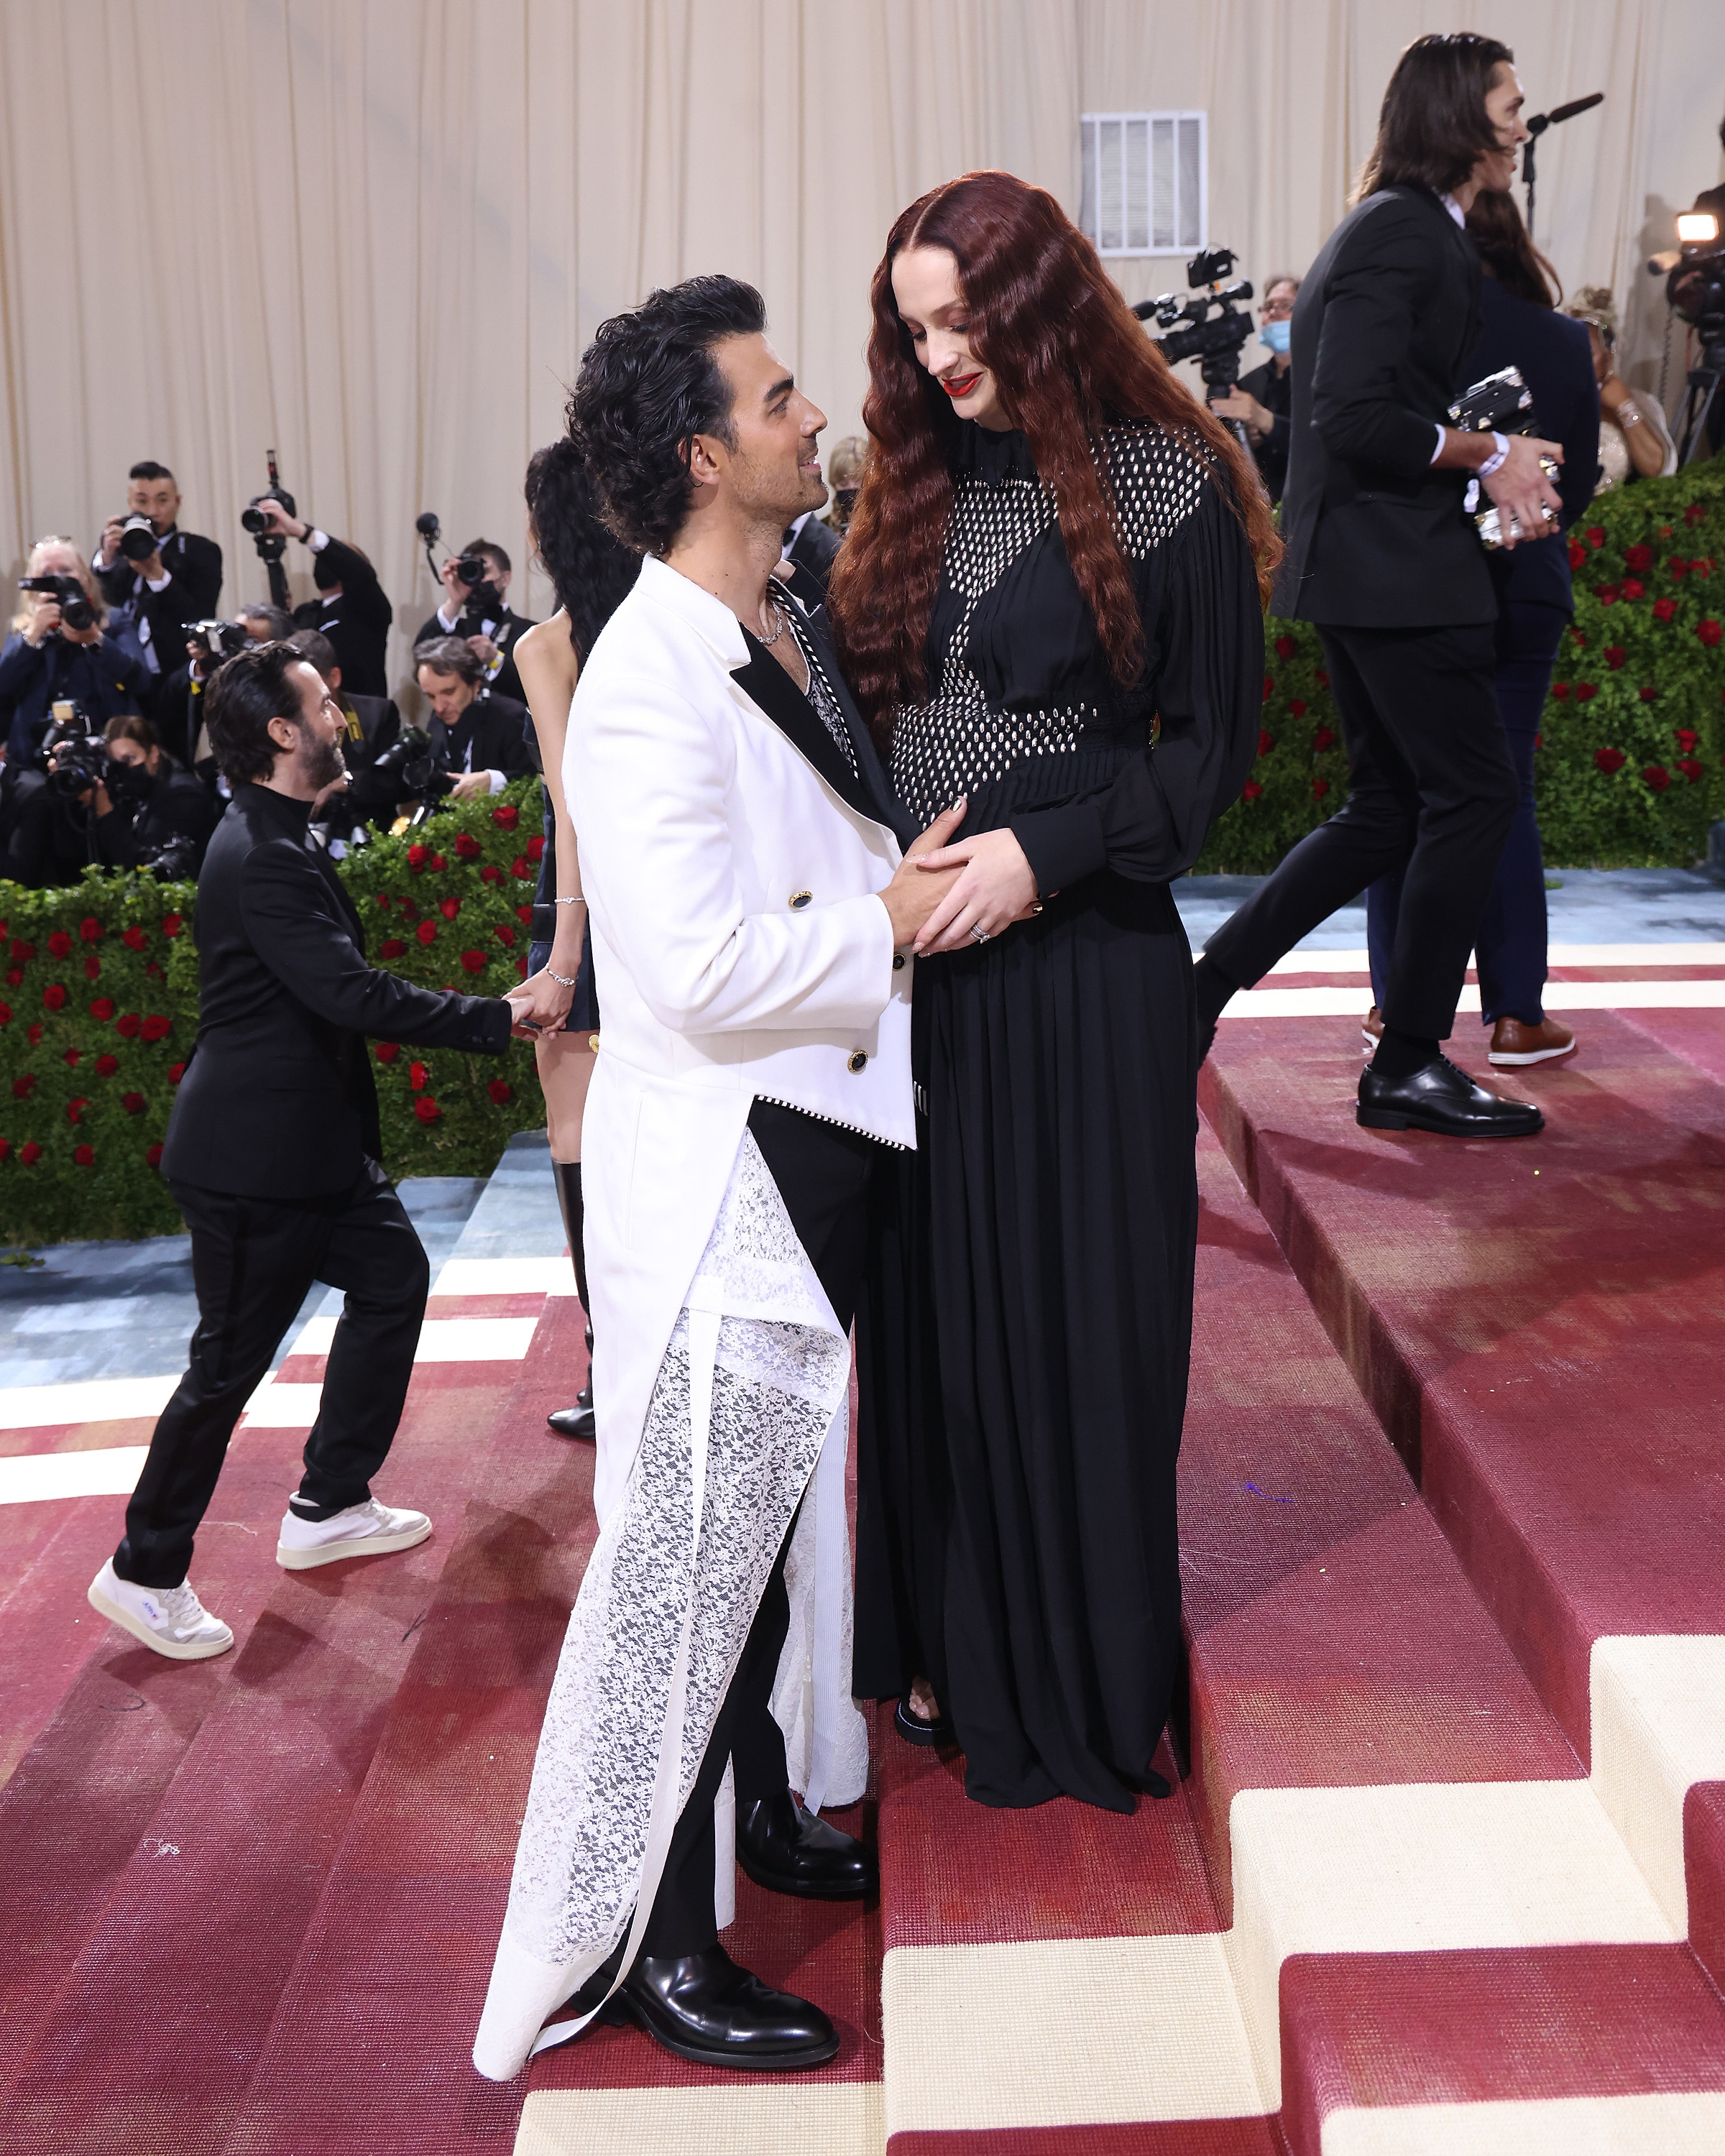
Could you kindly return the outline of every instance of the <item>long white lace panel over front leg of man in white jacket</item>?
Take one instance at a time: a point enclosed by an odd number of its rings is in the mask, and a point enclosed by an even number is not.
[[[681,1720],[677,1809],[701,1768],[772,1561],[847,1393],[850,1343],[830,1328],[824,1298],[811,1289],[813,1272],[778,1188],[744,1134],[660,1365],[627,1492],[599,1533],[569,1617],[481,2024],[483,2072],[513,2074],[539,2018],[621,1938],[645,1884],[668,1714]],[[718,1311],[694,1570],[692,1309]],[[677,1701],[673,1673],[686,1619],[688,1680]],[[522,1958],[546,1979],[561,1973],[567,1988],[552,1986],[554,1996],[537,2003],[498,1996],[500,1984],[526,1992]],[[513,2055],[518,2040],[520,2059],[509,2063],[502,2053]]]

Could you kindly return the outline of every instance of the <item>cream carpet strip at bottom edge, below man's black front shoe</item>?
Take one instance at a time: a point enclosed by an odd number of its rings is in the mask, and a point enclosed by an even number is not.
[[[884,2156],[884,2150],[878,2081],[535,2089],[515,2134],[515,2156]]]

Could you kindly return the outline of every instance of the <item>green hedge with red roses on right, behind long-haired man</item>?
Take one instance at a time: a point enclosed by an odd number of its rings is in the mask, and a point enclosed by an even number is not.
[[[1546,860],[1690,867],[1725,817],[1725,466],[1641,479],[1570,533],[1576,619],[1533,772]],[[1259,755],[1199,873],[1261,875],[1348,798],[1317,632],[1268,623]]]

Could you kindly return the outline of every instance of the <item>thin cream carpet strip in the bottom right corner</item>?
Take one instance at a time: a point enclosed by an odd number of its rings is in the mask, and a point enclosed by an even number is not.
[[[1324,2156],[1719,2156],[1725,2096],[1561,2096],[1527,2104],[1333,2111]]]

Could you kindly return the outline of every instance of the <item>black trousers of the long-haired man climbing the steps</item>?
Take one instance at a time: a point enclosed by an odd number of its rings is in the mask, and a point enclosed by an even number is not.
[[[1443,1041],[1518,800],[1492,692],[1494,627],[1324,627],[1320,638],[1348,744],[1348,804],[1203,955],[1251,987],[1339,906],[1404,869],[1384,1022]]]

